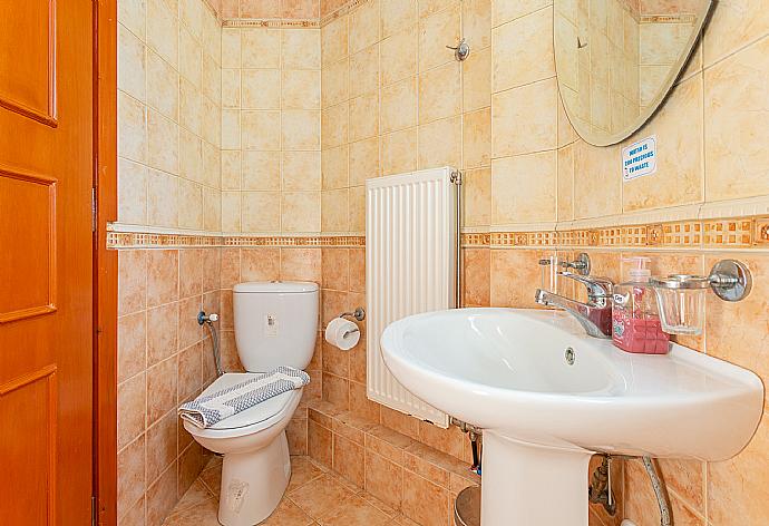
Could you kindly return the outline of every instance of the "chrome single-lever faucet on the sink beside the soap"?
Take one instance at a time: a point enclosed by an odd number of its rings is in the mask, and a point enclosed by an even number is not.
[[[537,289],[534,296],[541,305],[563,309],[572,314],[593,338],[612,337],[612,288],[614,283],[605,277],[580,275],[573,272],[558,272],[587,288],[587,302],[582,303],[549,291]]]

